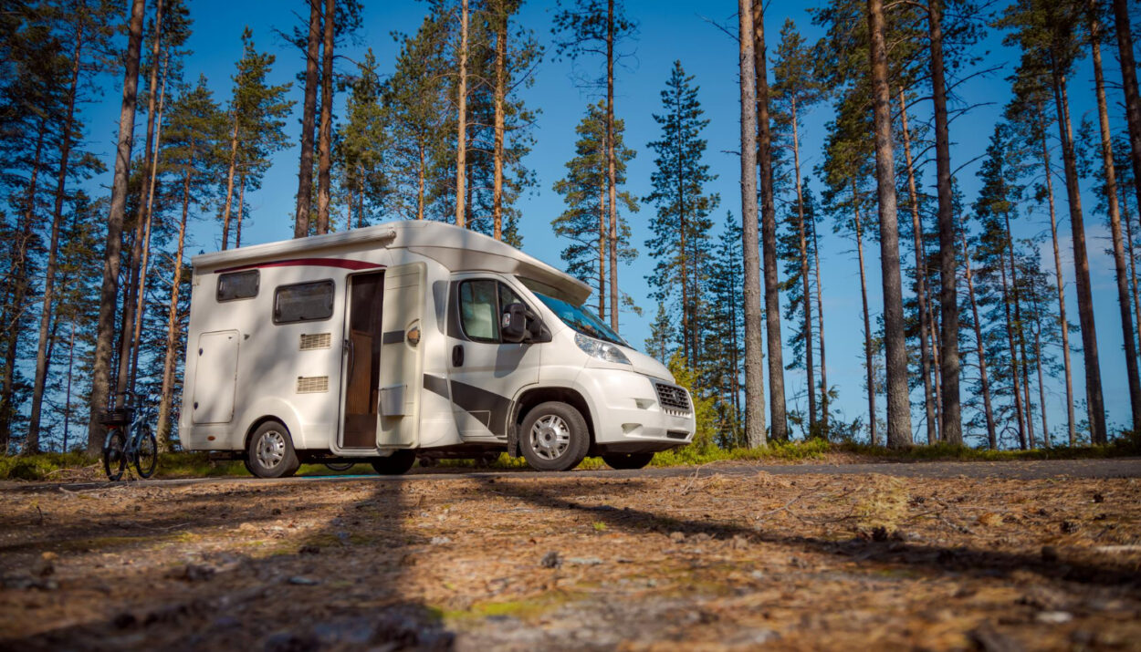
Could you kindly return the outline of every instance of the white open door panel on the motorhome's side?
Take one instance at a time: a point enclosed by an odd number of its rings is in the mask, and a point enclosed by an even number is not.
[[[421,317],[428,266],[412,262],[385,272],[380,357],[380,432],[377,446],[412,447],[420,426],[423,383]]]

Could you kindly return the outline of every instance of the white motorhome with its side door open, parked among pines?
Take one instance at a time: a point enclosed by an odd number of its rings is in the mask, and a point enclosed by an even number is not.
[[[502,450],[637,468],[693,438],[688,392],[586,285],[487,236],[390,222],[192,262],[179,438],[256,475]]]

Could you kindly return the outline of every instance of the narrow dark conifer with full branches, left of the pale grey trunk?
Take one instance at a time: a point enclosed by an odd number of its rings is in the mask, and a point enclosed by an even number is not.
[[[646,241],[650,255],[657,259],[654,274],[647,277],[654,288],[652,296],[666,304],[678,303],[682,359],[690,369],[699,369],[705,327],[702,294],[713,228],[710,213],[720,197],[704,191],[717,176],[703,161],[706,141],[701,136],[709,120],[702,117],[699,89],[693,81],[681,62],[674,62],[662,91],[663,112],[654,114],[662,136],[648,145],[656,154],[655,170],[650,174],[653,191],[642,201],[657,207],[649,221],[654,235]]]

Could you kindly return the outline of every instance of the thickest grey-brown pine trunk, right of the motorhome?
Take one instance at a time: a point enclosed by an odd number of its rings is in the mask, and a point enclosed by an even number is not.
[[[884,48],[883,36],[883,0],[868,0],[867,9],[868,31],[872,41],[872,85],[874,89],[875,107],[875,177],[880,199],[880,267],[883,270],[884,367],[888,373],[888,446],[904,448],[912,445],[912,406],[907,388],[907,348],[904,341],[904,296],[903,282],[899,274],[899,225],[896,221],[896,162],[891,140],[891,97],[888,93],[888,54]],[[941,239],[940,236],[940,242]],[[954,270],[954,267],[952,267],[952,270]],[[947,296],[946,292],[947,290],[944,288],[944,296]],[[944,310],[946,310],[946,307]],[[945,319],[944,331],[946,332],[946,329],[947,324]],[[945,365],[946,357],[947,354],[944,352]],[[955,369],[955,372],[957,374],[958,370]]]

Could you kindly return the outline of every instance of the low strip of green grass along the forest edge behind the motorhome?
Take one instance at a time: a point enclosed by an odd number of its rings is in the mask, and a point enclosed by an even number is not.
[[[940,443],[889,449],[866,443],[830,443],[824,440],[770,442],[766,448],[722,449],[687,446],[654,456],[652,466],[698,466],[713,462],[1005,462],[1015,459],[1097,459],[1141,455],[1141,438],[1118,438],[1108,446],[1077,446],[1039,448],[1035,450],[984,450],[965,446]],[[477,465],[472,459],[442,459],[444,468],[524,470],[521,457],[505,453],[488,465]],[[581,470],[606,468],[600,457],[588,457]],[[302,464],[299,475],[367,475],[367,464],[357,464],[347,471],[331,471],[322,464]],[[167,453],[159,457],[155,478],[219,478],[249,475],[241,462],[215,462],[204,453]],[[0,480],[102,480],[103,466],[98,458],[82,453],[43,453],[39,455],[0,456]]]

